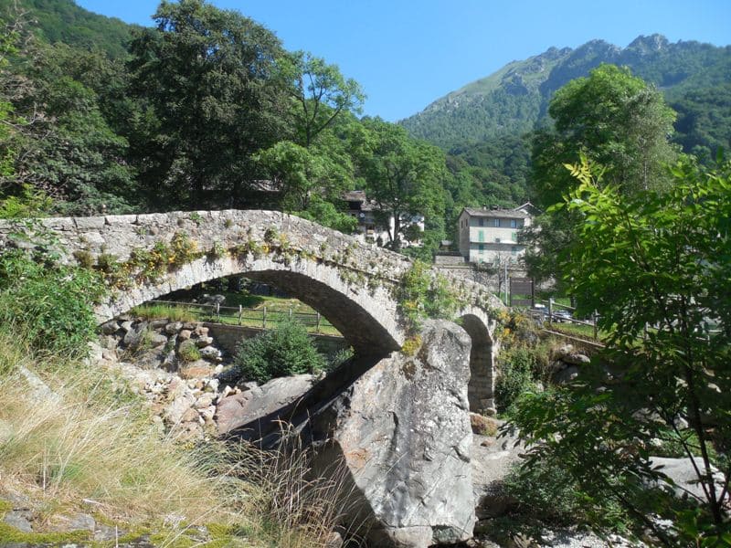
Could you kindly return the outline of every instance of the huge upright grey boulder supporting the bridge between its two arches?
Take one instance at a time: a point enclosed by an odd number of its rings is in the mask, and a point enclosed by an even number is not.
[[[471,340],[449,321],[427,322],[420,337],[415,355],[381,360],[313,419],[316,462],[346,470],[344,508],[369,522],[376,546],[458,543],[475,521]]]

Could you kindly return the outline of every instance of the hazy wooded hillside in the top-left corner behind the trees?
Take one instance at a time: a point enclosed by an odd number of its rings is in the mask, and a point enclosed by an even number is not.
[[[136,27],[92,13],[73,0],[0,0],[0,17],[13,21],[17,16],[50,44],[101,49],[111,58],[127,55],[126,44]]]

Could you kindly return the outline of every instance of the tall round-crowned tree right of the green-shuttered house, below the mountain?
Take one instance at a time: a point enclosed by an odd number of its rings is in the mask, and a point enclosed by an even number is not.
[[[622,195],[667,188],[665,164],[675,158],[669,137],[674,113],[662,95],[627,68],[601,65],[588,78],[571,80],[556,91],[548,112],[550,130],[536,132],[532,150],[533,199],[546,209],[559,203],[577,181],[564,168],[584,155],[601,164],[601,184],[612,184]],[[576,234],[576,220],[566,210],[536,219],[526,239],[534,244],[528,254],[536,279],[558,278],[552,257]]]

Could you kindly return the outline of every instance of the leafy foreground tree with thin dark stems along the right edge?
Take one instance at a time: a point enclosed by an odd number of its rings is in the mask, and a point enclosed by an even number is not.
[[[560,268],[578,314],[599,311],[607,351],[575,385],[519,406],[526,466],[567,469],[588,504],[618,502],[662,543],[728,545],[731,163],[705,171],[684,160],[669,191],[629,196],[588,163],[571,173],[578,185],[560,208],[582,222]],[[657,440],[694,458],[701,494],[674,493],[652,465]]]

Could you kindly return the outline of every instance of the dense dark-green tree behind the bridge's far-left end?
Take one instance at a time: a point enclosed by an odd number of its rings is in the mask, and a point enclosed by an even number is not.
[[[26,131],[18,175],[53,196],[62,214],[129,213],[136,188],[127,140],[111,128],[99,93],[81,81],[103,87],[109,61],[63,44],[38,45],[28,58],[22,76],[33,86],[16,105],[44,116]]]

